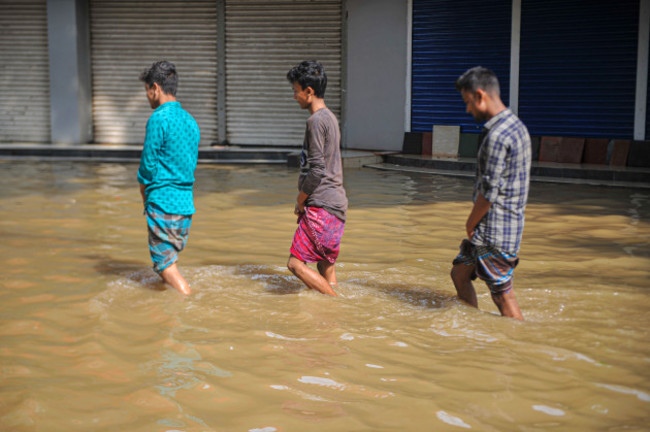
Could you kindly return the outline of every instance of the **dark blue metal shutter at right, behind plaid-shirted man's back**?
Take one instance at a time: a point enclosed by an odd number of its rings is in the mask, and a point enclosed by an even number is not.
[[[639,0],[523,0],[519,117],[532,135],[631,138]]]

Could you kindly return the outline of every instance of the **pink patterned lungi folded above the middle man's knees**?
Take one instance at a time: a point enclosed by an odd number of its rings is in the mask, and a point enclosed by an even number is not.
[[[291,255],[303,262],[329,261],[339,256],[345,222],[319,207],[305,207],[293,236]]]

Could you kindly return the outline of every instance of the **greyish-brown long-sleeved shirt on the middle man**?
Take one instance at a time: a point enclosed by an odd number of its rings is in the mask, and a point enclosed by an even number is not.
[[[341,132],[336,117],[321,108],[307,119],[300,155],[298,189],[309,195],[307,207],[321,207],[345,221],[348,198],[343,188]]]

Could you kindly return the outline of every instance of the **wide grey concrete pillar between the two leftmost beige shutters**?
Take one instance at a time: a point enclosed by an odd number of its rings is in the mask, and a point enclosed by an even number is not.
[[[88,0],[47,0],[53,144],[92,141]]]

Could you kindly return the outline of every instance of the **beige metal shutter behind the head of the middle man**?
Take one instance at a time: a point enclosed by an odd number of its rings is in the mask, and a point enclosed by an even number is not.
[[[300,145],[307,113],[289,69],[318,60],[341,113],[341,0],[226,0],[226,126],[231,144]]]

